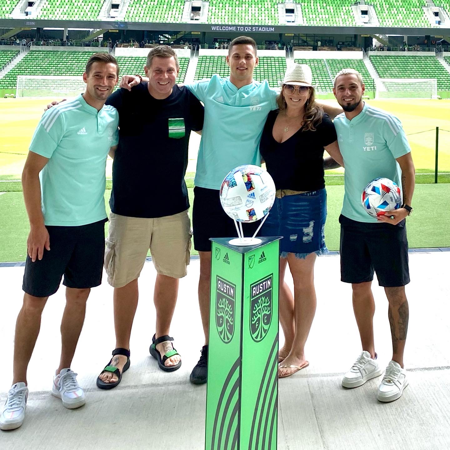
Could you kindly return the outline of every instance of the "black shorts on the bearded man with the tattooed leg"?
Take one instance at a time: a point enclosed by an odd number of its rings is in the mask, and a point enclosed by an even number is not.
[[[397,225],[367,223],[339,217],[341,280],[364,283],[374,279],[385,288],[410,282],[405,220]]]

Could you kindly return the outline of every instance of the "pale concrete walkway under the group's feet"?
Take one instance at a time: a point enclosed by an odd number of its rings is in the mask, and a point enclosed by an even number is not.
[[[342,374],[360,353],[351,288],[339,281],[338,256],[318,259],[318,305],[306,347],[310,366],[279,382],[279,449],[450,448],[450,252],[411,254],[410,266],[413,281],[407,287],[410,327],[405,352],[410,385],[401,399],[382,404],[376,399],[381,377],[354,390],[341,387]],[[0,449],[203,449],[206,387],[189,383],[203,343],[196,294],[198,272],[198,260],[192,261],[189,275],[180,282],[171,329],[183,365],[175,373],[164,373],[148,354],[154,333],[155,270],[152,263],[145,264],[131,335],[131,367],[112,391],[95,386],[114,347],[112,288],[104,281],[93,289],[72,365],[87,397],[86,405],[78,410],[65,409],[50,394],[59,361],[64,307],[61,288],[49,299],[42,317],[28,372],[25,422],[18,430],[0,432]],[[0,269],[2,405],[11,384],[22,276],[23,267]],[[385,366],[392,356],[387,300],[378,285],[374,295],[376,348]]]

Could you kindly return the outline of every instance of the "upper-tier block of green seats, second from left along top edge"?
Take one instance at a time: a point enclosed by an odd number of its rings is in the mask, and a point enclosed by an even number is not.
[[[45,0],[36,18],[97,20],[103,0]]]

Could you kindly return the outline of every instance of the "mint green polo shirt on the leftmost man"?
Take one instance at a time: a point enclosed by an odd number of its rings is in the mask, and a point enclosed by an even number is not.
[[[86,225],[107,217],[106,157],[119,142],[118,124],[116,108],[97,111],[82,95],[44,112],[30,151],[49,158],[39,174],[45,225]]]

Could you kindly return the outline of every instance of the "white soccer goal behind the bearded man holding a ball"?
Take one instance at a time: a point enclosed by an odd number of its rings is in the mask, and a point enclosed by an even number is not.
[[[376,99],[435,99],[436,78],[378,78]]]

